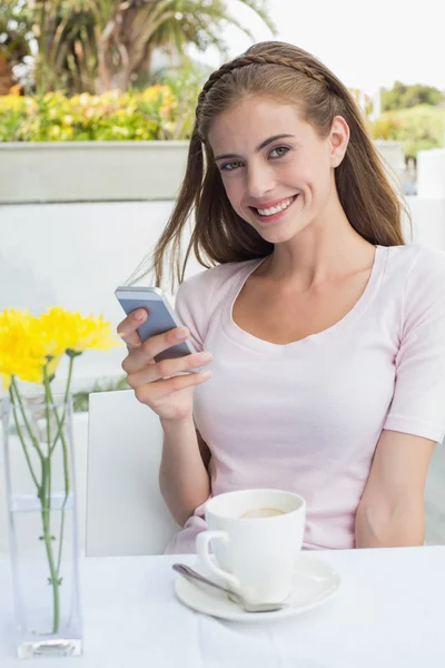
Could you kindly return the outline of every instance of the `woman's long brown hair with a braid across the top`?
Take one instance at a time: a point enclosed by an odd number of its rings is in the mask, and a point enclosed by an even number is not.
[[[322,138],[328,136],[335,116],[345,118],[350,138],[335,170],[345,214],[358,234],[372,244],[404,243],[400,200],[347,88],[303,49],[284,42],[261,42],[216,70],[199,95],[186,175],[151,259],[157,285],[161,284],[167,256],[175,284],[175,279],[184,281],[191,252],[205,267],[265,257],[273,252],[273,244],[264,240],[233,209],[207,141],[210,125],[219,114],[241,98],[258,95],[298,105],[304,119]],[[182,256],[182,233],[191,214],[195,226]]]

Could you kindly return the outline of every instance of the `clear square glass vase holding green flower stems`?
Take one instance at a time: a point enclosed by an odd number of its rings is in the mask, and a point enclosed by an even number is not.
[[[81,654],[71,396],[2,401],[20,658]]]

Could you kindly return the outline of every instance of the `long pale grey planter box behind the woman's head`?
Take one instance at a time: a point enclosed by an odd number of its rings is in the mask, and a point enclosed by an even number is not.
[[[398,180],[400,145],[376,147]],[[172,200],[187,153],[188,141],[0,144],[0,204]]]

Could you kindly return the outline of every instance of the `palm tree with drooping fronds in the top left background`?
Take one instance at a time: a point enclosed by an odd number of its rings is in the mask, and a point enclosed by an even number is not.
[[[69,92],[127,90],[150,66],[155,49],[187,56],[215,45],[239,24],[225,0],[3,0],[23,7],[37,43],[36,87]],[[266,0],[238,0],[274,31]]]

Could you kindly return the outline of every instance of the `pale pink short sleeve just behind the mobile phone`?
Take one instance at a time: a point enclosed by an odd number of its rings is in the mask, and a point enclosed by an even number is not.
[[[181,324],[190,331],[190,341],[197,353],[204,350],[208,328],[211,283],[211,271],[200,272],[181,283],[176,294],[175,311]]]

